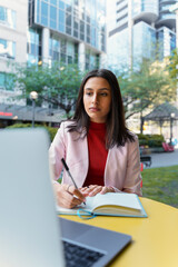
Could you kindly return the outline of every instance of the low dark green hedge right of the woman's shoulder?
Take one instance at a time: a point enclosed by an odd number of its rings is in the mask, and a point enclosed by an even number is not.
[[[138,135],[139,146],[162,147],[165,138],[162,135]]]

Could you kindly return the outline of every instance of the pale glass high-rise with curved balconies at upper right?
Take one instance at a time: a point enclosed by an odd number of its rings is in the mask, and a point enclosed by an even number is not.
[[[142,58],[159,60],[176,48],[176,14],[170,0],[111,0],[108,58],[115,66],[130,68]],[[110,18],[110,16],[109,16]]]

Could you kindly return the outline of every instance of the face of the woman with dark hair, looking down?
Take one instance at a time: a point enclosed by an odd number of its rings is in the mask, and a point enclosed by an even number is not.
[[[111,105],[111,88],[101,77],[89,78],[83,88],[85,110],[93,122],[106,122]]]

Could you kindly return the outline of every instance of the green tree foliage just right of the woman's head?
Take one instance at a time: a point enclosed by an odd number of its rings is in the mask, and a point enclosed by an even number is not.
[[[166,68],[158,62],[142,61],[139,69],[118,77],[126,118],[141,112],[150,106],[157,106],[175,96],[175,88]]]

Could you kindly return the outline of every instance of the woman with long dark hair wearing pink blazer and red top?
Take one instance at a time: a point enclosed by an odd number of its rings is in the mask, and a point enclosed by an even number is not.
[[[50,150],[55,180],[65,158],[79,190],[63,170],[62,184],[55,181],[61,207],[72,208],[86,196],[135,192],[141,196],[140,157],[137,137],[125,122],[120,88],[106,69],[83,78],[72,120],[61,123]]]

